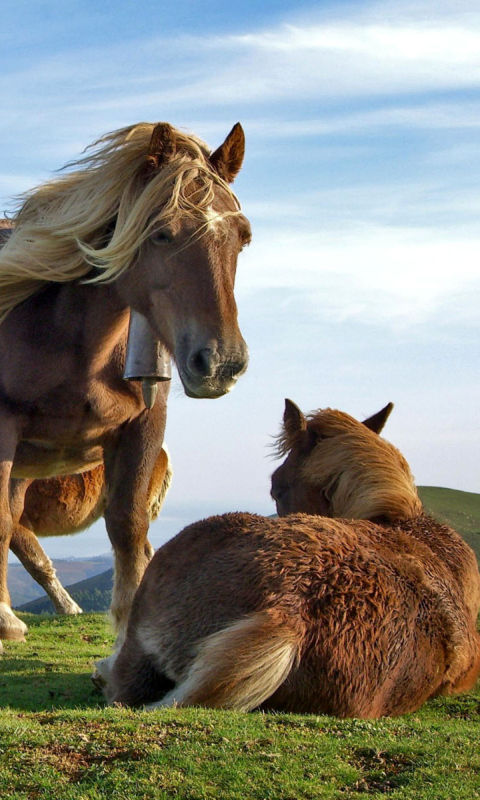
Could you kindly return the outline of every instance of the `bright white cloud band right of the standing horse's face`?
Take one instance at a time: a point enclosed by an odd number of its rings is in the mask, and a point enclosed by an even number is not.
[[[416,228],[359,227],[336,241],[264,232],[242,264],[238,293],[241,301],[290,291],[306,315],[336,323],[478,325],[479,252],[480,236],[439,238]]]

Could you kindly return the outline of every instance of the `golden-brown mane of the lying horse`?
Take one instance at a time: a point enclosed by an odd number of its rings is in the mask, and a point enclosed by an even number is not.
[[[390,523],[422,513],[410,468],[402,454],[353,417],[330,408],[306,417],[306,431],[281,430],[276,453],[287,455],[307,435],[315,445],[301,476],[321,487],[330,516]]]

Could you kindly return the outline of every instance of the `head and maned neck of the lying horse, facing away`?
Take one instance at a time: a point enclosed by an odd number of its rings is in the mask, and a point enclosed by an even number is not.
[[[279,516],[303,512],[393,522],[421,513],[410,468],[379,434],[393,404],[358,422],[324,409],[305,416],[285,401],[278,455],[287,456],[272,475]]]

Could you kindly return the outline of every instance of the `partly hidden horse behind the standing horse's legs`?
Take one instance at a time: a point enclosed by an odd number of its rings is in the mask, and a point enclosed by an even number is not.
[[[148,517],[157,519],[172,479],[170,458],[162,447],[148,489]],[[99,464],[77,475],[32,481],[25,494],[20,522],[10,549],[32,578],[42,586],[57,614],[81,614],[82,609],[60,583],[37,536],[68,536],[85,530],[103,516],[107,500],[105,469]],[[147,540],[146,548],[153,547]]]

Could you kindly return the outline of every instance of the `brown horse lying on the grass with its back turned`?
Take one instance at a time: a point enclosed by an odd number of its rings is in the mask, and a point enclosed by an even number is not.
[[[379,717],[473,685],[475,556],[424,516],[378,435],[390,410],[362,424],[287,401],[272,478],[287,516],[212,517],[157,551],[99,664],[111,702]]]

